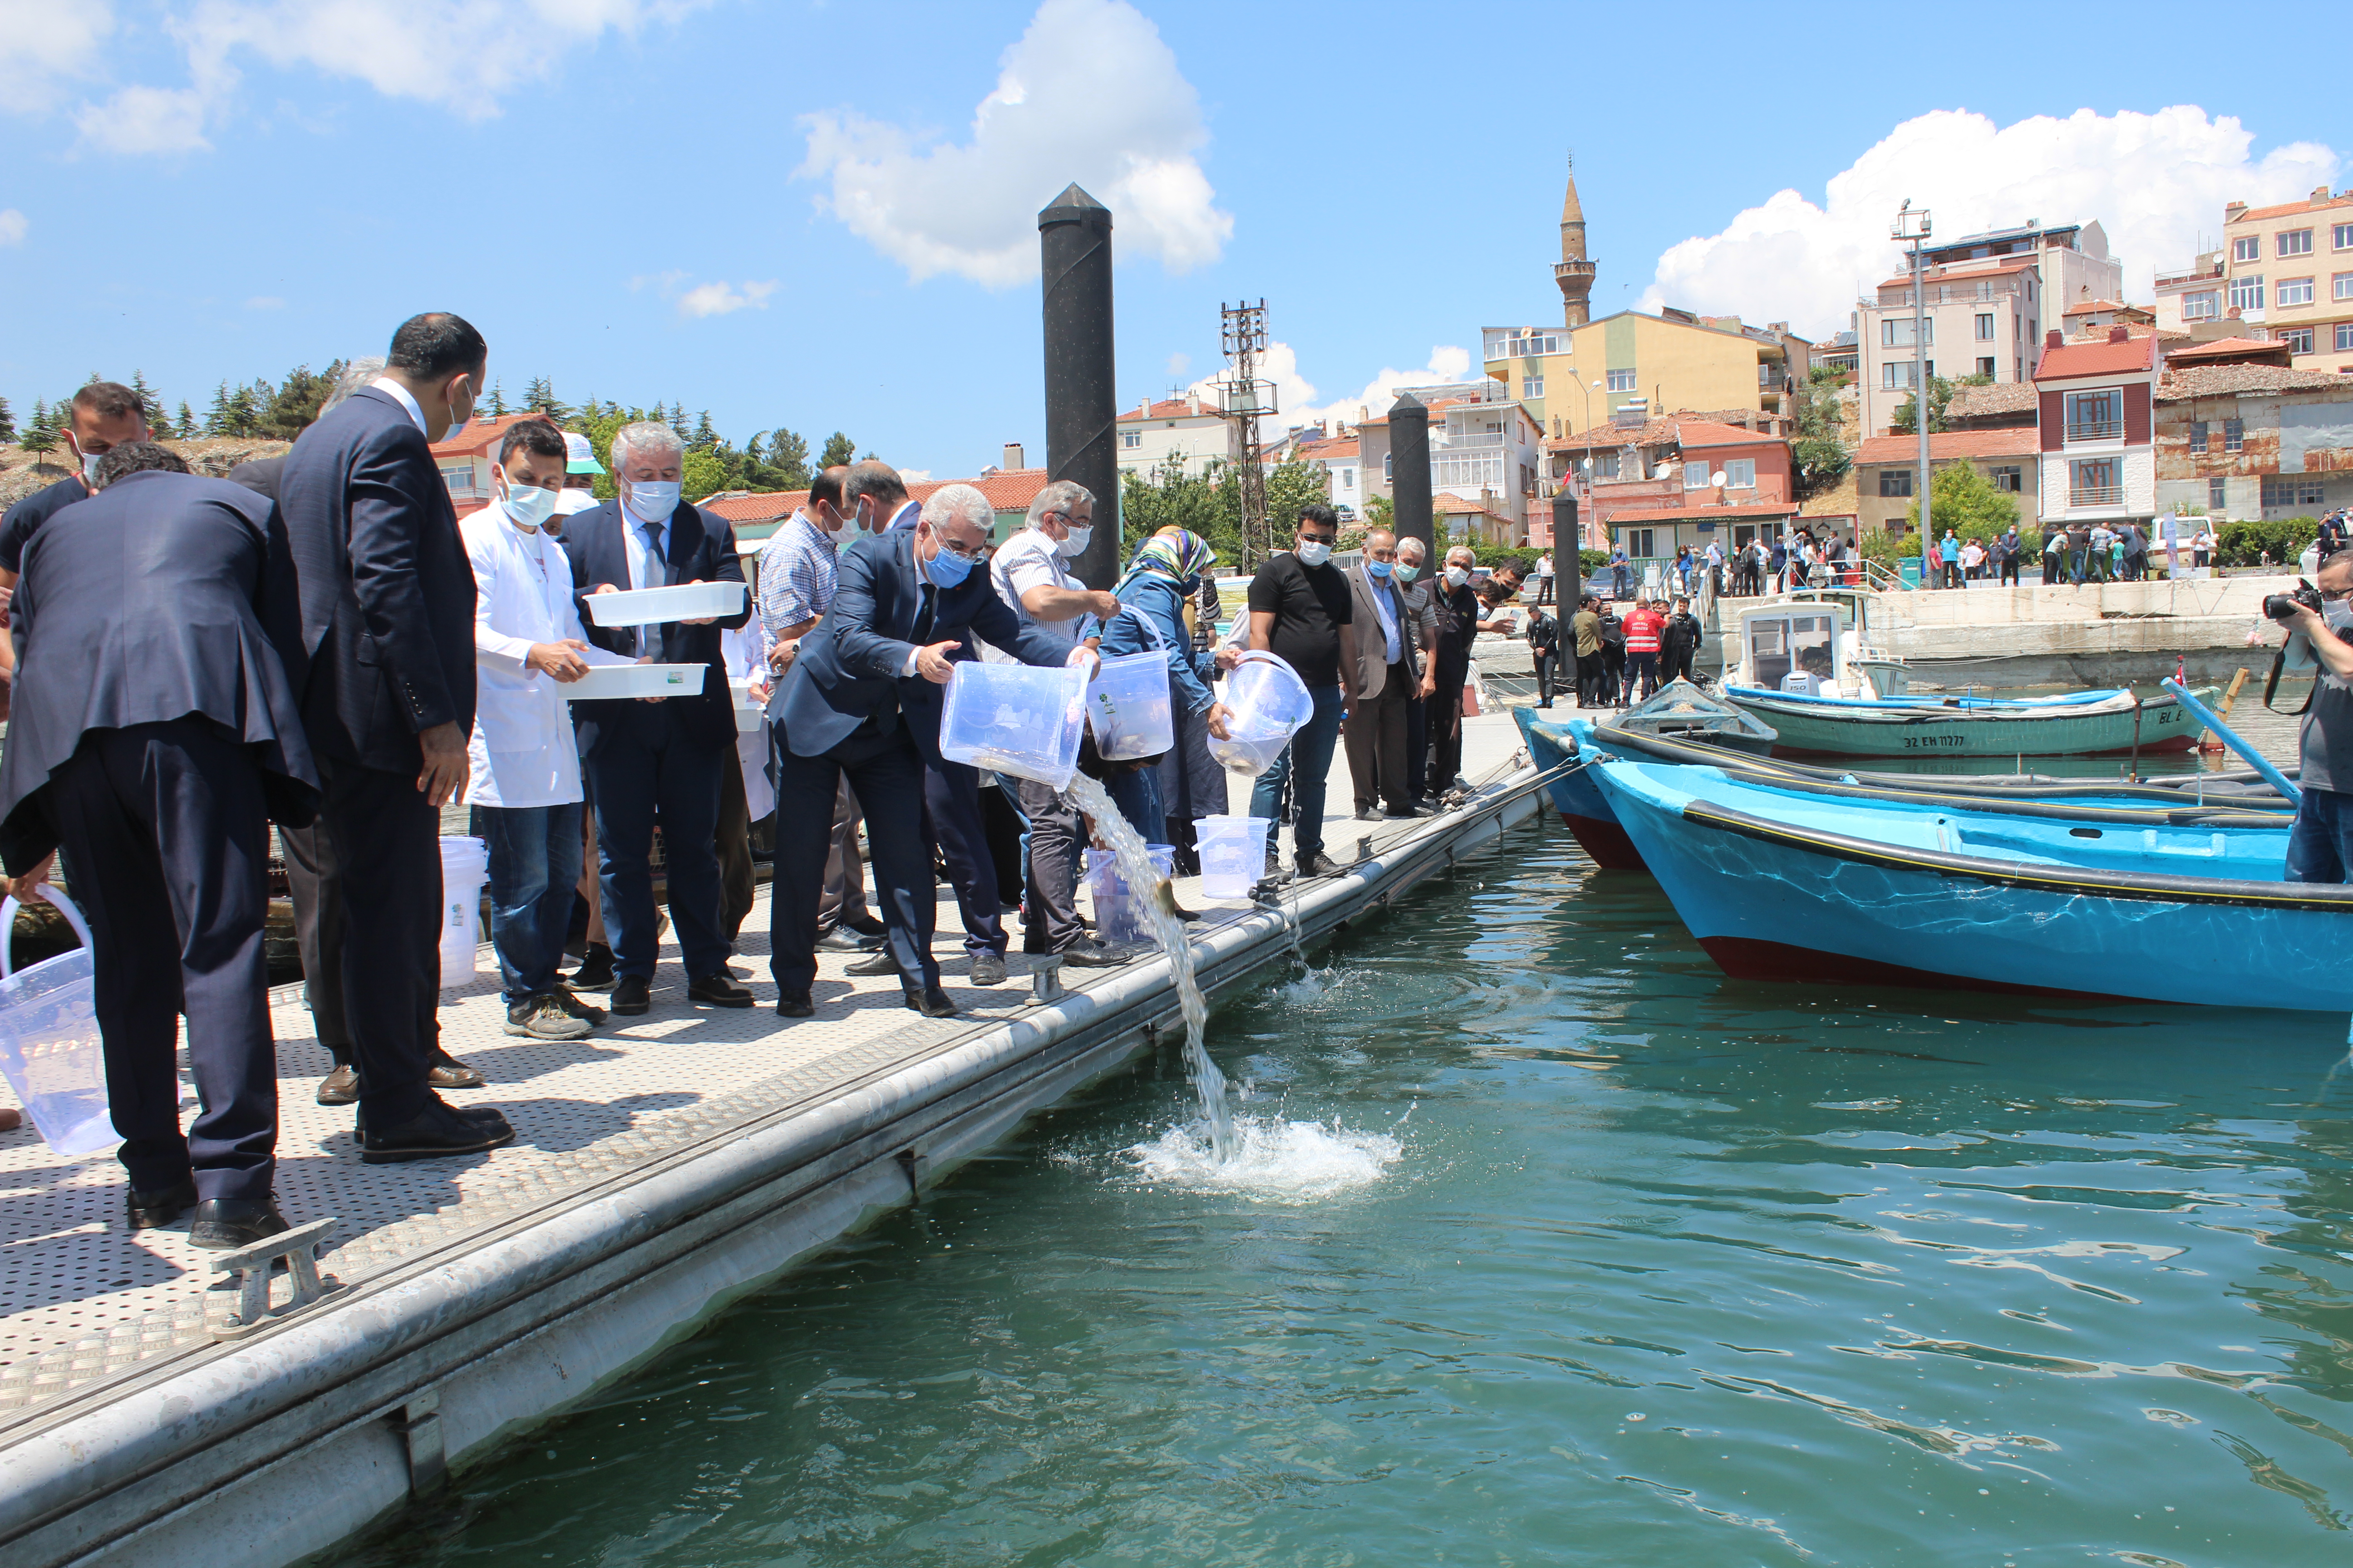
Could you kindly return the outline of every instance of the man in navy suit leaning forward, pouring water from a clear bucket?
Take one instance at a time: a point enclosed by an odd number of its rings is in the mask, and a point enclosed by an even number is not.
[[[906,1004],[955,1013],[932,959],[932,853],[922,832],[925,764],[939,764],[939,710],[967,632],[1028,665],[1092,658],[1024,625],[974,571],[995,510],[969,484],[944,484],[913,529],[849,545],[835,569],[833,609],[800,639],[800,658],[769,698],[776,799],[828,802],[842,773],[866,806],[887,950]],[[769,966],[776,1011],[814,1011],[816,898],[831,823],[824,811],[776,811],[776,886],[769,896]]]

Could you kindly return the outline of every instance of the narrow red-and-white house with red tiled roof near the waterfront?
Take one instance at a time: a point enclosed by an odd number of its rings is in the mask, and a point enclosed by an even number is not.
[[[2042,527],[2158,515],[2158,362],[2153,331],[2132,336],[2118,324],[2092,343],[2071,343],[2057,327],[2047,334],[2035,367]]]

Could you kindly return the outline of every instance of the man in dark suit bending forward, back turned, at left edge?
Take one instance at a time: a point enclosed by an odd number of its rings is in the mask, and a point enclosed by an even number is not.
[[[59,846],[73,865],[132,1229],[193,1206],[188,1239],[233,1248],[287,1227],[261,922],[268,818],[318,806],[285,668],[294,576],[278,508],[153,442],[111,449],[94,480],[73,527],[21,557],[0,863],[19,896]],[[181,1013],[202,1103],[188,1133]]]

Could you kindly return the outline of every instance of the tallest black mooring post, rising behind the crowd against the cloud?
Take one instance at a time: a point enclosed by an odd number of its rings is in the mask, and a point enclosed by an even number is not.
[[[1094,541],[1071,562],[1087,588],[1120,576],[1120,395],[1111,353],[1111,209],[1078,186],[1038,214],[1045,280],[1045,468],[1094,491]]]

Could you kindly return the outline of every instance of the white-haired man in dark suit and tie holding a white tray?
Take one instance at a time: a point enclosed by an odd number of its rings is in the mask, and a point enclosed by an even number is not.
[[[572,705],[595,811],[598,891],[619,973],[614,1013],[652,1006],[656,820],[687,997],[711,1006],[751,1006],[751,992],[727,973],[715,846],[720,771],[741,766],[720,628],[736,630],[751,621],[751,604],[720,621],[668,625],[598,625],[588,614],[588,599],[600,592],[744,581],[734,529],[678,498],[682,461],[685,442],[668,425],[621,425],[612,437],[612,475],[621,496],[565,520],[565,555],[588,639],[656,665],[704,665],[696,696]]]

